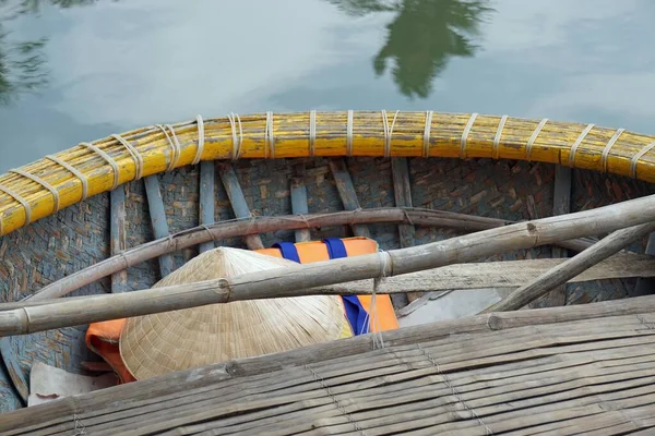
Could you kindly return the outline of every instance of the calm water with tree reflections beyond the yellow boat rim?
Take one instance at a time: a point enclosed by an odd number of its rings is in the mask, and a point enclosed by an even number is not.
[[[655,133],[648,0],[0,0],[0,171],[265,110],[508,113]]]

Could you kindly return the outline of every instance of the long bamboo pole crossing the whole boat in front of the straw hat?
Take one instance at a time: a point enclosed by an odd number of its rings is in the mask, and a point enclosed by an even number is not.
[[[509,250],[610,232],[655,220],[655,196],[576,214],[520,222],[426,245],[390,252],[294,265],[230,279],[209,280],[126,294],[96,295],[43,306],[0,312],[0,336],[22,335],[195,307],[281,296],[315,294],[310,289],[367,278],[390,277],[471,262]],[[273,291],[272,291],[273,290]]]

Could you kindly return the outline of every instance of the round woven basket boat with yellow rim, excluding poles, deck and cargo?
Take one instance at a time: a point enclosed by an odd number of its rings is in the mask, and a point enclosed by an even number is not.
[[[390,250],[592,209],[654,193],[654,136],[623,129],[432,111],[151,125],[0,175],[0,294],[17,302],[147,289],[217,245],[355,234]],[[629,250],[643,253],[646,239]],[[562,256],[541,245],[484,261]],[[591,277],[538,304],[629,296],[636,276]],[[0,411],[25,404],[36,361],[84,371],[94,359],[84,331],[1,339]]]

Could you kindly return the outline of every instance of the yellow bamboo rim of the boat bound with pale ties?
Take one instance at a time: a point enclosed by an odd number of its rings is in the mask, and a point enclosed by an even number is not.
[[[519,159],[655,182],[654,144],[655,136],[622,129],[477,113],[382,110],[198,117],[166,130],[151,125],[93,142],[103,155],[78,145],[55,155],[66,165],[44,158],[0,175],[0,235],[57,210],[56,195],[47,186],[57,190],[63,208],[111,190],[116,180],[126,183],[191,165],[199,157]]]

